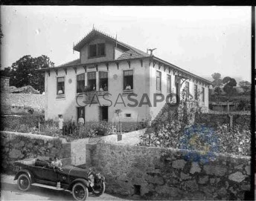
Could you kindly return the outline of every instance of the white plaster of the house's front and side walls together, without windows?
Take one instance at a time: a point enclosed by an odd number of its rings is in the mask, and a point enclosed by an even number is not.
[[[139,102],[141,101],[141,97],[143,93],[147,93],[150,98],[150,103],[152,107],[148,105],[141,105],[141,107],[129,107],[127,104],[134,104],[134,102],[130,102],[127,99],[127,95],[123,92],[123,70],[134,70],[133,76],[133,93],[137,94],[137,96],[132,96],[132,99],[136,99]],[[98,71],[106,71],[106,65],[100,64],[98,65]],[[143,65],[141,67],[141,62],[139,60],[131,60],[130,67],[126,61],[119,62],[119,69],[115,63],[109,64],[109,93],[111,95],[105,96],[105,100],[103,96],[98,96],[100,105],[109,106],[109,122],[115,120],[116,114],[115,110],[121,109],[121,118],[125,122],[136,122],[143,121],[148,119],[149,116],[153,118],[159,113],[161,108],[165,104],[165,98],[167,96],[167,74],[169,74],[168,69],[164,72],[164,67],[160,68],[161,71],[161,93],[164,94],[164,101],[158,102],[156,107],[153,105],[153,94],[157,93],[156,91],[156,70],[159,70],[158,64],[153,67],[153,63],[149,66],[149,59],[143,60]],[[87,72],[95,71],[93,69],[87,69]],[[58,114],[63,114],[64,119],[68,120],[74,116],[77,119],[77,107],[80,105],[84,105],[81,103],[77,105],[76,101],[76,90],[77,90],[77,75],[80,73],[85,73],[83,67],[77,67],[77,74],[75,73],[73,68],[68,68],[67,75],[65,75],[64,70],[58,70],[58,75],[54,70],[51,70],[51,76],[48,76],[48,73],[45,73],[45,101],[47,105],[45,105],[45,119],[57,119]],[[98,80],[98,72],[97,75],[97,90],[99,89],[99,80]],[[65,77],[65,99],[57,99],[57,76]],[[114,76],[117,79],[114,79]],[[175,76],[173,75],[173,70],[170,71],[171,76],[171,89],[172,92],[175,93]],[[68,82],[71,80],[71,83]],[[86,82],[87,82],[87,73],[86,73]],[[198,89],[202,90],[202,86],[198,85]],[[184,84],[183,84],[184,86]],[[190,82],[190,91],[193,94],[193,82]],[[122,102],[121,94],[124,99],[124,104],[115,104],[116,102]],[[108,99],[108,100],[106,100]],[[202,98],[201,98],[202,99]],[[79,101],[82,100],[79,99]],[[110,101],[112,105],[110,105]],[[144,99],[144,102],[147,100]],[[99,119],[99,104],[92,104],[91,106],[86,106],[86,121],[98,121]],[[208,88],[205,87],[205,107],[208,108]],[[131,117],[126,117],[125,114],[130,113]]]

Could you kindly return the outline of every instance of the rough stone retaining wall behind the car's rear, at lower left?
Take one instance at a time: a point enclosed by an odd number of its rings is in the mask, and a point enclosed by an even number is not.
[[[13,162],[21,159],[60,156],[65,164],[71,164],[71,143],[52,136],[1,131],[1,171],[15,173],[19,167]]]

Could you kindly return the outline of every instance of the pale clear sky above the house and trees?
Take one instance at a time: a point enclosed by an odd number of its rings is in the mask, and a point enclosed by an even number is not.
[[[211,80],[212,73],[251,81],[251,7],[1,6],[1,67],[46,55],[61,65],[79,58],[92,30]]]

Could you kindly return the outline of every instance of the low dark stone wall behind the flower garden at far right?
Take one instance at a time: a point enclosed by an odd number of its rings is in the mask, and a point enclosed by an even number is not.
[[[251,126],[251,115],[249,114],[220,114],[220,113],[200,113],[196,114],[195,123],[205,124],[211,128],[217,128],[218,123],[220,125],[231,125],[231,117],[233,116],[233,125],[245,126],[249,128]]]

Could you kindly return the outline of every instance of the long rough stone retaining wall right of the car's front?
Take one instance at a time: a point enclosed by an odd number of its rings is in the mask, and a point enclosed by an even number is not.
[[[243,200],[250,190],[250,158],[214,154],[187,161],[190,152],[100,143],[86,145],[86,166],[106,177],[106,192],[146,200]],[[201,153],[202,154],[202,153]]]

